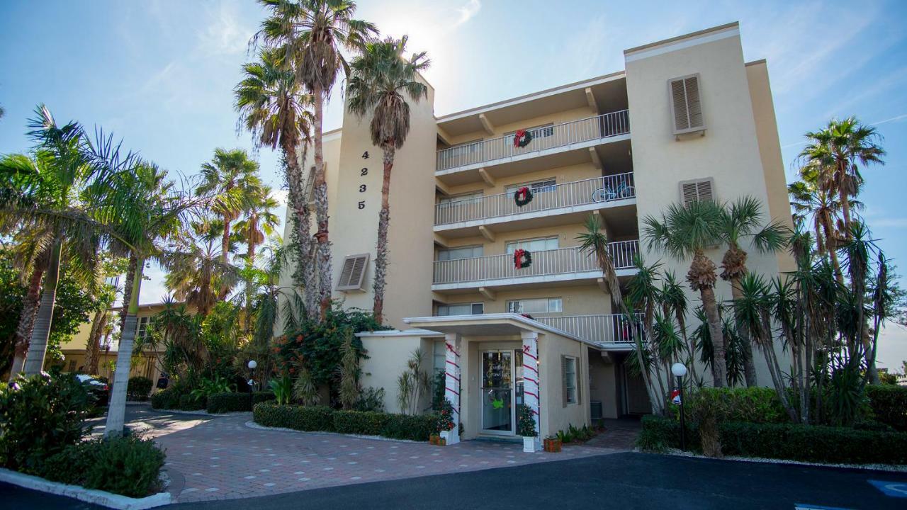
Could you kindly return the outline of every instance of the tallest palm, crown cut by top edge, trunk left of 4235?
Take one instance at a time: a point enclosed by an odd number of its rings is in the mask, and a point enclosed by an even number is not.
[[[285,51],[297,80],[312,93],[314,118],[315,215],[319,311],[324,319],[331,302],[331,249],[328,239],[327,180],[323,151],[324,104],[341,71],[349,74],[342,50],[357,52],[378,33],[375,25],[357,20],[351,0],[258,0],[269,10],[255,35]]]

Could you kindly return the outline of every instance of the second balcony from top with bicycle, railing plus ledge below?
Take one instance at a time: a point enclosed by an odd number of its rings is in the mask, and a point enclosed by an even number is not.
[[[464,229],[463,235],[476,235],[478,232],[472,230],[480,225],[530,221],[555,215],[571,215],[562,223],[572,223],[581,221],[584,212],[629,206],[635,203],[633,199],[636,198],[633,172],[564,182],[532,192],[532,201],[522,207],[513,201],[512,192],[439,203],[434,206],[434,231]],[[551,221],[548,223],[551,224]],[[532,227],[526,224],[515,228]]]

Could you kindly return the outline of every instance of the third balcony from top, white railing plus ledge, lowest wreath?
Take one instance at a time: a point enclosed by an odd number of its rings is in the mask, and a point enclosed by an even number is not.
[[[632,274],[633,259],[639,252],[639,241],[611,242],[608,248],[618,276]],[[435,260],[432,290],[505,288],[526,283],[595,281],[600,278],[601,270],[595,257],[571,247],[533,251],[532,265],[519,270],[514,267],[511,254]]]

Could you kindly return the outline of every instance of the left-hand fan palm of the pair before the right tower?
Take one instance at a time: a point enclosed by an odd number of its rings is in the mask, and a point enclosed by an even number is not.
[[[643,221],[650,250],[662,250],[677,260],[692,258],[687,281],[691,289],[699,292],[706,313],[708,333],[715,349],[712,363],[715,387],[725,386],[727,367],[721,314],[715,298],[718,276],[715,262],[708,259],[706,250],[720,242],[723,219],[724,213],[716,203],[692,201],[687,206],[671,204],[660,220],[647,216]]]

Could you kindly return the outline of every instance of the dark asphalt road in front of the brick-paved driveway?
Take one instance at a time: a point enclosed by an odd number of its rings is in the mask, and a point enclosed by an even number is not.
[[[626,453],[167,508],[907,508],[907,498],[883,495],[869,480],[902,483],[907,491],[904,473]],[[5,484],[0,502],[99,508]]]

